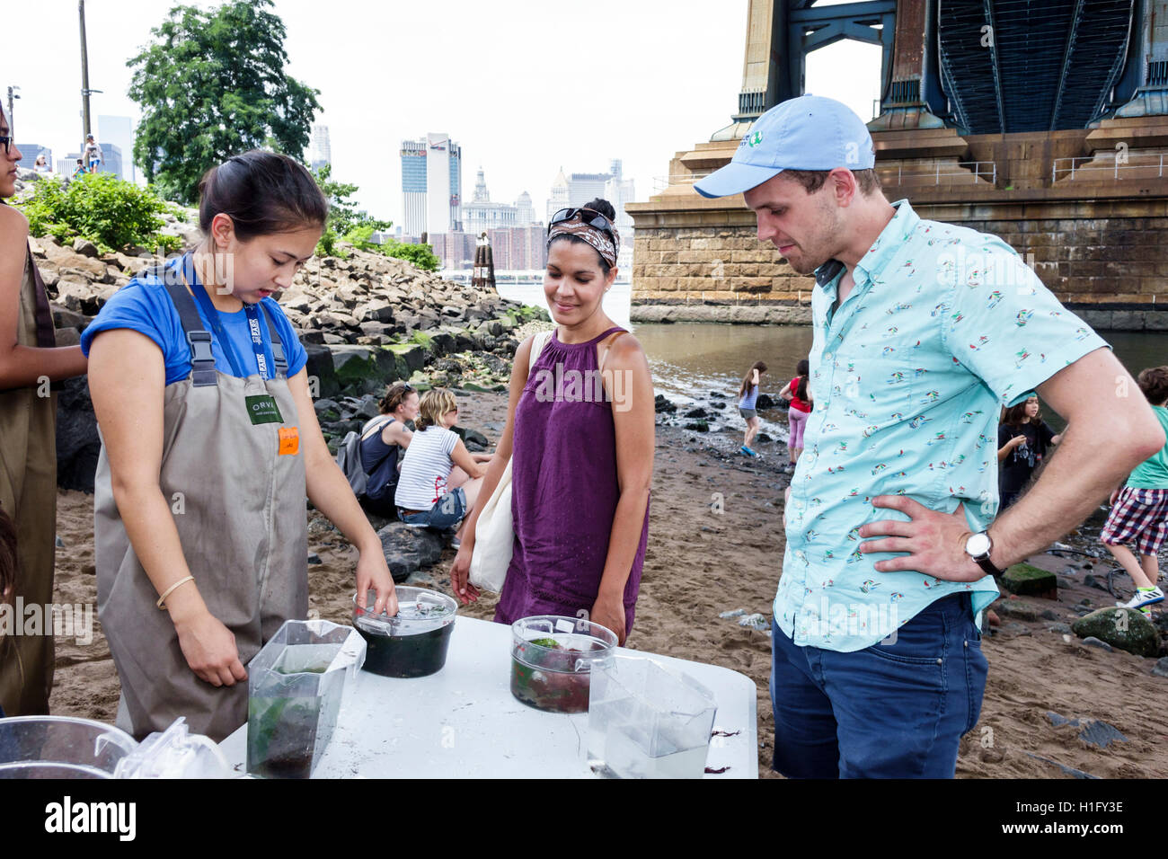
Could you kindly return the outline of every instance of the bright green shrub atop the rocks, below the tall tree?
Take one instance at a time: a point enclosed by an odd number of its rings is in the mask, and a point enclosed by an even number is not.
[[[34,236],[51,235],[68,244],[88,238],[103,254],[132,245],[178,250],[182,240],[161,235],[160,214],[172,207],[153,188],[139,188],[112,173],[90,173],[70,181],[42,179],[21,206]]]

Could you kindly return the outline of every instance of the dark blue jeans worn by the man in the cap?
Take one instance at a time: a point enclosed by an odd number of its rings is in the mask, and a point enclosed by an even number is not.
[[[952,778],[986,691],[969,596],[930,604],[895,644],[851,653],[772,632],[774,763],[788,778]]]

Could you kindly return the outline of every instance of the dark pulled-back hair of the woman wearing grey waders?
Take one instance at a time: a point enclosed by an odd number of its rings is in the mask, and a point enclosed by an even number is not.
[[[307,168],[287,155],[251,150],[211,167],[199,182],[199,227],[230,215],[242,242],[273,233],[325,226],[328,201]]]

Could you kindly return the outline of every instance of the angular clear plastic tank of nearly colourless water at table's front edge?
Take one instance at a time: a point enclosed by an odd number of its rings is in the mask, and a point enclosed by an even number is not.
[[[592,670],[589,766],[610,778],[701,778],[717,702],[694,678],[653,659]]]

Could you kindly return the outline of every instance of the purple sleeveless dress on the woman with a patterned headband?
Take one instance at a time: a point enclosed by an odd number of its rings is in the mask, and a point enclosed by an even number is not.
[[[515,542],[496,623],[530,615],[577,617],[596,603],[620,496],[612,403],[598,381],[596,346],[617,331],[624,328],[609,328],[582,344],[563,344],[552,334],[528,374],[515,407]],[[648,533],[646,506],[625,586],[626,635],[633,628]]]

